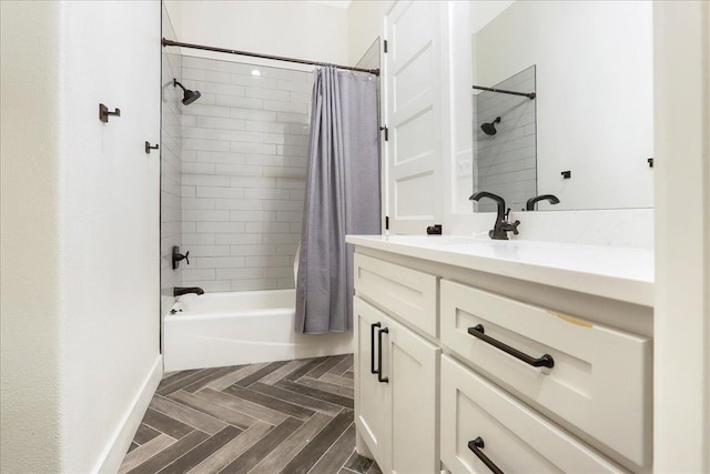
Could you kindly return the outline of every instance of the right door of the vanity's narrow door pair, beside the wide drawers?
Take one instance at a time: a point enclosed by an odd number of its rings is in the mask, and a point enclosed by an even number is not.
[[[434,315],[432,315],[434,316]],[[393,319],[386,321],[392,435],[386,471],[402,474],[440,471],[438,446],[438,373],[440,349]]]

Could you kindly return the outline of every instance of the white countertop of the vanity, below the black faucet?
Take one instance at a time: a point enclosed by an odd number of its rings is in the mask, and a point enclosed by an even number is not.
[[[348,235],[348,243],[612,300],[653,305],[653,251],[456,235]]]

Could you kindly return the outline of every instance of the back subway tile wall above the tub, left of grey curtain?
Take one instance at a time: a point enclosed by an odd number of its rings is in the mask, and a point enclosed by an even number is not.
[[[202,93],[182,107],[183,284],[294,288],[312,73],[183,57],[182,78]]]

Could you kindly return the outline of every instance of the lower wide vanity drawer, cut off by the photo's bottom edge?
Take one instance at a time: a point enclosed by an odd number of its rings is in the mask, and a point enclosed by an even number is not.
[[[442,357],[442,461],[452,473],[623,472],[449,356]]]

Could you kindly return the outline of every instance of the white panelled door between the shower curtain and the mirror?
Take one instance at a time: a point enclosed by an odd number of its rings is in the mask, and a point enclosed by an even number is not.
[[[439,21],[445,3],[399,1],[385,17],[386,186],[393,233],[424,233],[443,216]]]

